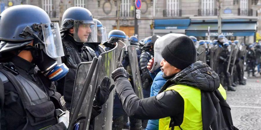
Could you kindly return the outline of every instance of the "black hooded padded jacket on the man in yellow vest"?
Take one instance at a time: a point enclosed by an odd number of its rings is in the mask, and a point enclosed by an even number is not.
[[[212,73],[212,74],[209,74]],[[130,82],[126,78],[116,81],[116,90],[126,113],[141,120],[160,119],[171,116],[173,122],[170,126],[182,124],[184,114],[184,100],[175,90],[166,90],[176,84],[185,84],[201,90],[203,129],[220,129],[233,126],[229,105],[217,90],[220,86],[218,75],[201,61],[197,61],[181,72],[169,77],[157,96],[139,99],[134,93]],[[220,105],[220,103],[223,103]],[[227,120],[223,118],[220,106],[230,115]],[[229,122],[229,123],[225,123]]]

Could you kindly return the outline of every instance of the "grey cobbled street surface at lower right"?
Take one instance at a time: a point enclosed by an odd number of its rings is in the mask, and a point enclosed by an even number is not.
[[[247,85],[227,92],[234,126],[240,130],[261,130],[261,77],[250,77]]]

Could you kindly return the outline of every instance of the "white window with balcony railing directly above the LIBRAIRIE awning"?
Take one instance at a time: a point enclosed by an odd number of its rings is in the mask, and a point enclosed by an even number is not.
[[[166,0],[166,10],[163,10],[165,17],[181,16],[180,0]]]

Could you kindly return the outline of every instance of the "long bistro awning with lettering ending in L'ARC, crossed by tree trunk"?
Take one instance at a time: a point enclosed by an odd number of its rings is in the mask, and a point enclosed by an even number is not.
[[[192,23],[186,29],[187,36],[207,36],[210,27],[211,36],[218,36],[218,24]],[[225,36],[254,36],[256,23],[222,23],[222,34]]]

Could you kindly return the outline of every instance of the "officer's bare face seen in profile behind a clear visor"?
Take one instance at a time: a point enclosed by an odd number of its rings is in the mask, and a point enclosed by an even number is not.
[[[81,24],[78,27],[78,37],[82,42],[87,42],[89,34],[92,32],[90,24]]]

